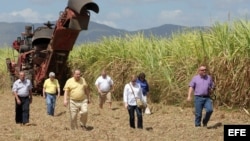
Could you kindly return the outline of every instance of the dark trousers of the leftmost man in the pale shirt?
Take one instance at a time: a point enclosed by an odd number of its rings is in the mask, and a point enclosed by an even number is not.
[[[29,97],[19,97],[21,104],[17,104],[16,101],[16,123],[28,123],[30,112],[30,99]]]

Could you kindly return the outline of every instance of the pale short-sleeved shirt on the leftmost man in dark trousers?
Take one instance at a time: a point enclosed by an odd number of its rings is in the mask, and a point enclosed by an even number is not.
[[[12,91],[16,92],[20,97],[29,96],[29,92],[32,89],[32,84],[29,79],[21,81],[20,79],[16,80],[13,84]]]

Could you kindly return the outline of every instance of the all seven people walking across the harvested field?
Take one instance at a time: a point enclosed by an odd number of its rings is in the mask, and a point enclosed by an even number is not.
[[[187,98],[188,101],[191,101],[191,93],[194,92],[196,127],[201,126],[203,108],[206,109],[206,115],[202,123],[203,126],[207,126],[213,112],[212,101],[209,94],[210,90],[214,87],[211,76],[206,73],[206,66],[199,67],[198,71],[198,75],[194,76],[189,84]],[[140,99],[147,105],[149,85],[145,77],[145,73],[140,73],[138,76],[132,75],[123,90],[123,102],[128,111],[129,125],[131,128],[136,128],[135,113],[137,115],[137,128],[143,128],[143,112],[146,112],[146,110],[137,106],[137,100]],[[105,102],[109,103],[109,108],[111,109],[111,95],[114,91],[114,82],[112,78],[107,75],[106,70],[102,70],[101,75],[95,81],[95,86],[99,95],[100,110],[103,109]],[[91,102],[91,97],[88,83],[81,77],[81,71],[79,69],[74,70],[73,76],[66,81],[63,90],[63,104],[69,107],[71,129],[74,130],[78,128],[77,116],[80,114],[80,127],[83,130],[87,130],[88,104]],[[19,79],[14,82],[12,92],[15,96],[16,103],[16,123],[22,125],[28,124],[29,105],[32,102],[32,84],[29,79],[25,78],[24,72],[19,73]],[[55,78],[55,73],[50,72],[49,78],[44,81],[43,85],[43,97],[46,99],[47,114],[50,116],[54,116],[56,100],[57,97],[60,96],[60,93],[60,84]]]

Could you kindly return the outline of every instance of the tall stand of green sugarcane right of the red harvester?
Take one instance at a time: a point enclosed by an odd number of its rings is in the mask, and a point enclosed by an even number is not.
[[[114,98],[121,100],[131,74],[145,72],[150,99],[181,104],[188,83],[201,64],[208,66],[216,83],[218,105],[250,106],[250,23],[238,20],[216,23],[206,31],[186,30],[171,38],[104,37],[95,43],[75,46],[68,63],[84,72],[92,92],[103,68],[114,79]]]

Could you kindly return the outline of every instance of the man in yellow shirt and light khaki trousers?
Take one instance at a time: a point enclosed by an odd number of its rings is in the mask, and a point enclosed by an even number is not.
[[[87,130],[88,104],[90,94],[88,84],[81,77],[81,71],[75,70],[73,77],[66,81],[64,90],[64,106],[69,105],[71,129],[77,129],[77,115],[80,113],[80,124],[83,130]],[[69,104],[68,104],[69,103]]]

